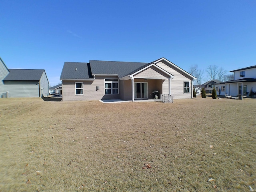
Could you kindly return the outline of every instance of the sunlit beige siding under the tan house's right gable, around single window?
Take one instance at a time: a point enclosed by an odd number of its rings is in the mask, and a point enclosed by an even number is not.
[[[192,78],[184,74],[182,71],[178,71],[176,68],[165,62],[158,62],[156,64],[160,68],[166,70],[174,76],[170,80],[171,83],[171,95],[174,96],[174,99],[186,99],[192,98]],[[189,93],[184,93],[184,81],[190,82]],[[166,92],[166,82],[164,82],[164,92]]]

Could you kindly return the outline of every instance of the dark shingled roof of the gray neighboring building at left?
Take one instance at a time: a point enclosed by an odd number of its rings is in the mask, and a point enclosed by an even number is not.
[[[10,73],[4,81],[39,81],[43,69],[9,69]]]

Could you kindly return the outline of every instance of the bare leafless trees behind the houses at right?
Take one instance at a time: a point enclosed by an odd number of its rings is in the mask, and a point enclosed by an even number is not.
[[[197,64],[193,64],[189,67],[188,72],[196,78],[196,80],[194,80],[195,85],[202,84],[202,78],[205,74],[205,78],[209,80],[217,79],[222,82],[234,80],[233,74],[227,74],[227,70],[224,70],[222,67],[218,67],[216,65],[209,65],[204,72],[204,70],[198,68]]]

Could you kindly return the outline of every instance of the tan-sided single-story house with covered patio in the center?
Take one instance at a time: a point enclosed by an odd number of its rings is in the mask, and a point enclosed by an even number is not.
[[[165,58],[151,63],[90,60],[65,62],[60,80],[62,100],[140,100],[192,98],[195,77]]]

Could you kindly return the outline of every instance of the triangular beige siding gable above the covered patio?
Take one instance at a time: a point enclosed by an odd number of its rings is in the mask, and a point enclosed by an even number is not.
[[[151,78],[151,79],[159,79],[159,78],[168,78],[167,74],[159,70],[158,68],[155,67],[150,67],[147,68],[146,70],[143,70],[142,72],[136,74],[134,78]]]

